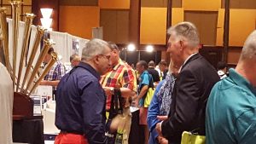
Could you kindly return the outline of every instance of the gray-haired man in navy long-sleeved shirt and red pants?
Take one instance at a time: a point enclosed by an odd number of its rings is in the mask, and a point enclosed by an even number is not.
[[[86,43],[82,60],[68,72],[57,87],[55,125],[61,133],[55,144],[103,144],[106,96],[100,75],[112,65],[108,43],[92,39]]]

